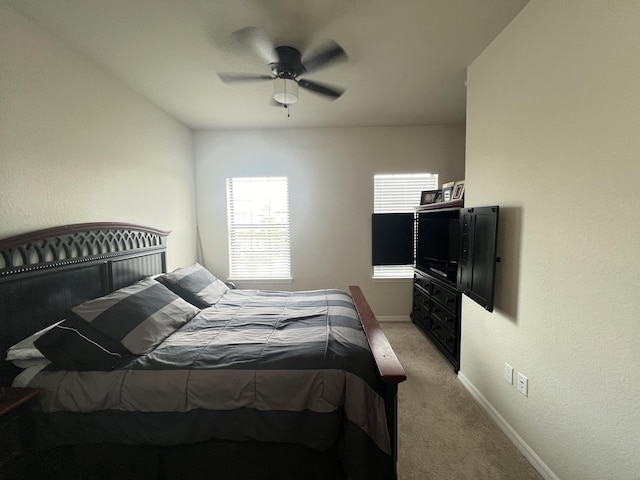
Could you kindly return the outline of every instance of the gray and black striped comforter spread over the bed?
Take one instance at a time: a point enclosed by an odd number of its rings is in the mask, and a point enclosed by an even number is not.
[[[230,290],[125,367],[49,367],[29,386],[44,392],[47,446],[222,439],[325,450],[339,441],[343,455],[388,465],[376,372],[345,292]]]

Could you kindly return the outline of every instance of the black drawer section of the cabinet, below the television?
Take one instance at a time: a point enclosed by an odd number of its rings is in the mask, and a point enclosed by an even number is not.
[[[411,320],[442,355],[460,370],[460,298],[456,285],[430,272],[416,269]]]

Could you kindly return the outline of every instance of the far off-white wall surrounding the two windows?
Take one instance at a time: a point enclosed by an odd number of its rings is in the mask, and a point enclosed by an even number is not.
[[[380,316],[408,315],[410,282],[371,280],[373,176],[432,171],[464,175],[462,126],[212,131],[195,134],[198,226],[204,264],[228,275],[225,179],[287,176],[291,284],[304,290],[360,285]]]

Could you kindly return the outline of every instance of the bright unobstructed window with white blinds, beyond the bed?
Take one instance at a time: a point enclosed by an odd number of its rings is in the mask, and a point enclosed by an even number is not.
[[[229,276],[291,279],[287,177],[227,179]]]

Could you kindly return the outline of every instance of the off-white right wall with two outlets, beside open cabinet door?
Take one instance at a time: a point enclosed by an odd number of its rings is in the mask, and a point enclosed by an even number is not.
[[[463,302],[461,379],[549,478],[640,478],[639,25],[532,0],[468,70],[465,203],[501,206],[502,263],[496,311]]]

